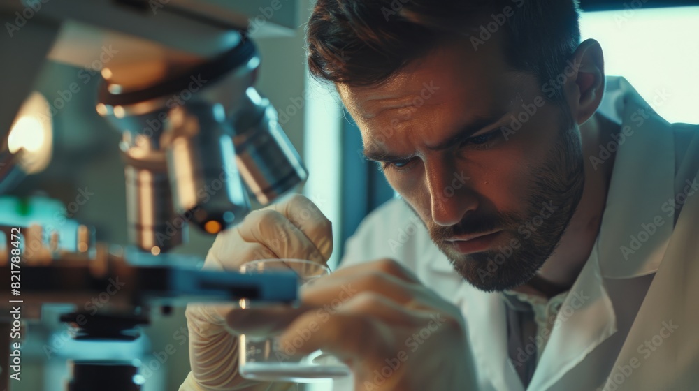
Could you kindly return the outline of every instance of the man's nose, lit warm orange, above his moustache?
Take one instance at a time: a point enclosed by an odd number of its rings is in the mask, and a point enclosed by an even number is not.
[[[470,177],[454,165],[435,163],[427,168],[427,186],[432,220],[440,226],[454,226],[478,207]]]

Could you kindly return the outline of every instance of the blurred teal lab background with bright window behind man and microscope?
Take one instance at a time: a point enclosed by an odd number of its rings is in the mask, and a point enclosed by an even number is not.
[[[359,131],[335,92],[308,77],[303,29],[312,0],[298,0],[294,6],[282,0],[281,4],[278,12],[294,20],[289,28],[265,28],[269,17],[262,7],[257,13],[253,10],[256,16],[250,18],[252,38],[262,58],[257,89],[277,108],[280,124],[309,169],[303,193],[333,221],[336,250],[331,267],[336,267],[342,244],[359,221],[394,193],[375,166],[363,159]],[[659,102],[651,105],[668,121],[699,124],[696,1],[581,1],[581,6],[583,37],[602,44],[607,74],[623,75],[647,101]],[[51,216],[57,224],[73,220],[94,226],[100,242],[127,244],[124,168],[117,149],[121,136],[94,110],[97,78],[82,68],[54,61],[46,61],[41,75],[38,92],[50,103],[64,101],[61,107],[55,105],[57,114],[52,116],[52,163],[27,177],[14,189],[13,197],[0,197],[3,223]],[[73,82],[81,91],[66,100],[65,91]],[[656,96],[665,98],[656,100]],[[44,198],[37,200],[37,196]],[[28,197],[34,199],[30,202]],[[203,258],[212,242],[212,236],[192,229],[189,243],[174,252]],[[182,343],[183,312],[156,314],[144,341],[124,353],[140,355],[149,374],[145,391],[177,390],[189,371],[187,344]],[[55,341],[50,346],[60,348],[47,352],[46,341]],[[95,345],[96,351],[103,348]],[[60,334],[45,335],[38,344],[28,341],[23,371],[31,376],[13,383],[13,390],[58,390],[56,385],[67,376],[66,357],[75,353],[73,349]],[[330,389],[329,385],[308,388]]]

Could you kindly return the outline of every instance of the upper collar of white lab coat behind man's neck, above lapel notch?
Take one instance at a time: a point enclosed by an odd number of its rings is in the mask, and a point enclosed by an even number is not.
[[[626,136],[618,142],[598,236],[600,272],[605,278],[628,279],[656,272],[670,242],[675,140],[670,124],[626,79],[608,78],[606,94],[600,112],[621,119]]]

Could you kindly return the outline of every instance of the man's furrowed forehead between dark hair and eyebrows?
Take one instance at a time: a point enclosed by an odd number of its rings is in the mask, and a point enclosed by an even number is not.
[[[380,85],[339,84],[340,97],[360,128],[367,122],[395,123],[415,108],[422,115],[460,107],[464,115],[489,115],[521,76],[507,64],[501,39],[493,36],[477,50],[466,38],[440,45]]]

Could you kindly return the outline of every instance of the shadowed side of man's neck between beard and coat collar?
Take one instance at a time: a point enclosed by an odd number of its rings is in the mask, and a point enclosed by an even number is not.
[[[612,134],[619,132],[619,127],[619,124],[600,114],[580,126],[585,172],[582,198],[559,246],[541,267],[537,277],[514,290],[553,297],[575,283],[600,231],[616,153],[602,163],[596,159],[591,161],[590,157],[598,157],[600,145],[607,145],[612,140]]]

